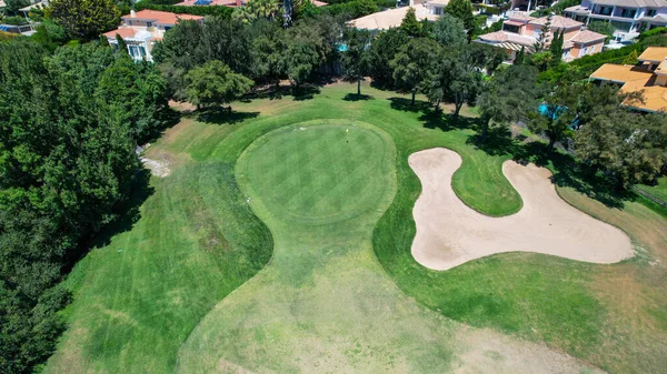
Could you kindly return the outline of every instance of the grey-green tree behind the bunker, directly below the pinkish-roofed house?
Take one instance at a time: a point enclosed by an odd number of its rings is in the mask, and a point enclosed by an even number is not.
[[[477,100],[481,117],[481,141],[486,141],[491,124],[506,125],[528,118],[537,107],[537,70],[528,65],[511,65],[486,82]]]

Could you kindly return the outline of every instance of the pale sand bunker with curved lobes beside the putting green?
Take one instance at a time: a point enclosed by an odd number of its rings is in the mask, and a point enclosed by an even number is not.
[[[468,208],[454,193],[451,175],[461,164],[458,153],[444,148],[420,151],[410,155],[409,164],[422,185],[412,211],[417,224],[412,256],[426,267],[447,270],[515,251],[603,264],[634,255],[623,231],[563,201],[547,169],[506,161],[502,173],[524,206],[516,214],[491,218]]]

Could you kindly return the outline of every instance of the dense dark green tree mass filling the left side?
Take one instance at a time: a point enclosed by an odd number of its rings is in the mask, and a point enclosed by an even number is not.
[[[52,352],[63,266],[121,212],[165,87],[156,67],[98,42],[0,43],[0,372]]]

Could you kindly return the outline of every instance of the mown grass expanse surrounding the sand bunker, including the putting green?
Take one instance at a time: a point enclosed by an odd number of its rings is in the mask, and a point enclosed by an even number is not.
[[[168,130],[147,155],[172,174],[151,179],[141,218],[73,269],[70,327],[46,372],[445,372],[460,360],[457,321],[611,372],[664,370],[667,220],[559,188],[625,230],[640,256],[508,253],[429,271],[410,255],[420,185],[408,155],[459,152],[455,191],[490,215],[521,206],[500,172],[511,155],[471,145],[469,120],[447,127],[364,89],[372,98],[335,84]]]

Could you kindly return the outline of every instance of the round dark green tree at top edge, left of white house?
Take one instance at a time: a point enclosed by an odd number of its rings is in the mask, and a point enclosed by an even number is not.
[[[71,39],[93,40],[116,28],[120,10],[113,0],[52,0],[47,14],[61,24]]]

